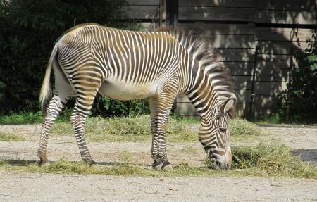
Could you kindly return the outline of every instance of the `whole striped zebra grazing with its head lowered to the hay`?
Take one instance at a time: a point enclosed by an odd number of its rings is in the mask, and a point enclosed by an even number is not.
[[[51,95],[50,74],[55,90]],[[232,80],[212,49],[191,33],[171,27],[135,32],[98,24],[70,28],[55,43],[49,58],[39,101],[42,131],[39,164],[49,163],[49,131],[68,99],[75,95],[70,115],[83,161],[96,165],[84,136],[85,120],[97,93],[128,101],[149,98],[151,157],[156,170],[173,170],[166,154],[166,126],[176,96],[185,94],[201,118],[198,139],[214,168],[230,168],[228,120],[234,115],[236,96]]]

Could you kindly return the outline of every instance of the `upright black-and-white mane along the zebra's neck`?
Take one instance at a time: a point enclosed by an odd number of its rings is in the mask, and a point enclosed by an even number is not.
[[[211,44],[199,37],[193,37],[192,32],[186,33],[182,29],[173,27],[162,27],[157,32],[167,32],[174,39],[176,39],[185,49],[189,55],[192,55],[199,65],[198,68],[204,71],[211,80],[217,82],[213,83],[212,89],[216,91],[223,91],[221,96],[229,96],[226,92],[233,92],[233,82],[230,71],[218,62],[215,62],[213,57],[213,49]],[[235,108],[232,108],[229,113],[231,118],[235,117]]]

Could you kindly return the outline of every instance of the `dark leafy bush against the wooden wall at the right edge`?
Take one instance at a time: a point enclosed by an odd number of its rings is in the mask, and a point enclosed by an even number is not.
[[[293,122],[317,121],[317,56],[315,51],[296,55],[299,68],[292,71],[287,90],[280,95],[282,115],[290,106],[290,120]]]

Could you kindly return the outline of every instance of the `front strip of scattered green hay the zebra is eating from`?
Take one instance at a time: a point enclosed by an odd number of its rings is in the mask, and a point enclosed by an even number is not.
[[[151,170],[149,165],[132,163],[132,154],[124,151],[119,154],[120,163],[101,165],[92,168],[87,163],[57,160],[50,165],[39,167],[37,163],[24,160],[0,160],[0,170],[15,172],[128,175],[142,177],[178,176],[259,176],[259,177],[304,177],[317,179],[316,165],[302,162],[293,156],[286,146],[258,145],[232,148],[233,163],[230,170],[212,170],[209,164],[193,167],[187,163],[174,165],[173,172]]]

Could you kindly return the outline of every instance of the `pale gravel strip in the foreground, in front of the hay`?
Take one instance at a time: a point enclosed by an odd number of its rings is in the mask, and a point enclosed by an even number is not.
[[[306,179],[0,172],[0,182],[0,201],[317,201],[317,182]]]

